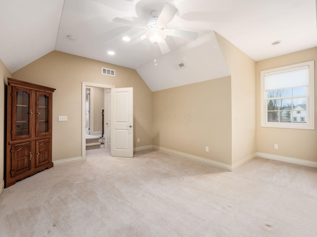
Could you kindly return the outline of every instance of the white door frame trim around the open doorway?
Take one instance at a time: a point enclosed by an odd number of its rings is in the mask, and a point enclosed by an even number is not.
[[[105,84],[97,84],[97,83],[91,83],[91,82],[82,82],[82,96],[81,96],[81,123],[82,123],[82,141],[81,141],[81,160],[86,160],[86,86],[88,87],[101,87],[101,88],[107,88],[111,89],[114,88],[114,85],[105,85]]]

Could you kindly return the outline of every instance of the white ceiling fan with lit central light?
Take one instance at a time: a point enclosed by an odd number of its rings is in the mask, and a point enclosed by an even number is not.
[[[196,40],[198,36],[197,32],[174,30],[166,27],[166,24],[174,18],[177,11],[177,8],[166,2],[161,12],[156,10],[151,12],[152,18],[148,20],[145,25],[118,17],[114,18],[113,21],[146,29],[147,32],[145,33],[145,38],[154,44],[159,44],[159,48],[164,54],[170,51],[168,45],[165,42],[166,36],[189,40]]]

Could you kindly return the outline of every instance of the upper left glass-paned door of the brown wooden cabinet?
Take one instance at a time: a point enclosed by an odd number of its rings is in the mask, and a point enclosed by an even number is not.
[[[31,137],[32,90],[13,88],[12,102],[12,140]]]

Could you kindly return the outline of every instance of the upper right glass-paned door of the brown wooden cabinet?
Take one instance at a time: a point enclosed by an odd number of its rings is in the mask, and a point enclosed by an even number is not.
[[[52,134],[52,94],[36,92],[35,136]]]

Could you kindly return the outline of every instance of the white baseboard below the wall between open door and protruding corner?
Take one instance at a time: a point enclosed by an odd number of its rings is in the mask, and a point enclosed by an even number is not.
[[[220,168],[220,169],[224,169],[224,170],[228,170],[228,171],[232,171],[233,170],[232,165],[225,164],[225,163],[222,163],[222,162],[218,162],[218,161],[215,161],[215,160],[211,160],[211,159],[207,159],[207,158],[203,158],[203,157],[190,155],[190,154],[187,154],[187,153],[178,152],[178,151],[174,151],[174,150],[163,148],[163,147],[159,147],[159,146],[153,146],[153,149],[156,149],[156,150],[159,150],[159,151],[163,151],[163,152],[175,155],[175,156],[188,158],[188,159],[193,160],[193,161],[198,161],[198,162],[202,162],[202,163],[205,163],[205,164],[209,164],[211,166],[214,166],[214,167],[217,167],[217,168]]]

